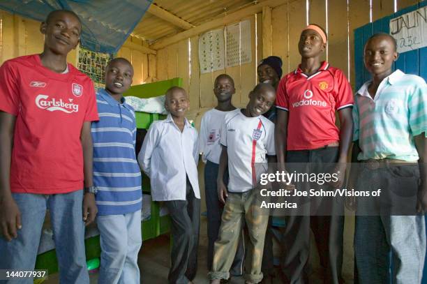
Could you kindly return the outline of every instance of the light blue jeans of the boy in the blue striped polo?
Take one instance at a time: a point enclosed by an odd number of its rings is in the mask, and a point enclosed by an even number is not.
[[[100,232],[98,283],[139,284],[138,253],[142,245],[141,211],[96,218]]]

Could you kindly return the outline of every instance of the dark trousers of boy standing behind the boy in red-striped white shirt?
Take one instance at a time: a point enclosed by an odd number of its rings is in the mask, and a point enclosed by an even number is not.
[[[223,205],[218,199],[218,190],[216,189],[216,177],[218,176],[218,164],[207,161],[204,166],[204,190],[206,195],[207,208],[207,233],[208,233],[208,269],[212,269],[213,244],[218,239],[219,228],[221,225],[221,215],[223,214]],[[228,174],[225,174],[225,184],[228,182]],[[244,271],[244,238],[243,234],[239,237],[239,246],[232,263],[230,274],[232,276],[241,276]]]

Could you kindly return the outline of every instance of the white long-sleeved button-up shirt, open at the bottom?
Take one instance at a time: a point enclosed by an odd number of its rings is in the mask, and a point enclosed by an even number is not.
[[[195,197],[200,198],[198,155],[197,130],[187,119],[182,132],[170,114],[154,121],[138,154],[138,162],[150,178],[153,200],[186,200],[186,176]]]

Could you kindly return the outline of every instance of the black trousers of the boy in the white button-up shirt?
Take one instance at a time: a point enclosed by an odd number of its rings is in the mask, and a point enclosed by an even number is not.
[[[200,230],[200,199],[187,179],[186,200],[166,201],[171,218],[172,253],[167,279],[170,284],[187,284],[197,272]]]

